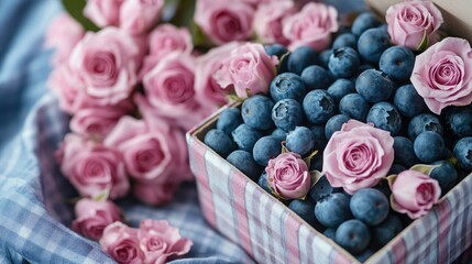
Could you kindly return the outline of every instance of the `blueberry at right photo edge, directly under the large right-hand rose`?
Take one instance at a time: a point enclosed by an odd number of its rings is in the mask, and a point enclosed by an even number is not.
[[[446,124],[458,136],[472,135],[472,109],[454,108],[446,113]]]

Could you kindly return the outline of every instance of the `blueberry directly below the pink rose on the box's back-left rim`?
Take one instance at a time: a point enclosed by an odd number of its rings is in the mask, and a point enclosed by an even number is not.
[[[271,119],[274,102],[265,96],[252,96],[248,98],[241,107],[242,120],[249,127],[259,130],[270,130],[274,128]]]

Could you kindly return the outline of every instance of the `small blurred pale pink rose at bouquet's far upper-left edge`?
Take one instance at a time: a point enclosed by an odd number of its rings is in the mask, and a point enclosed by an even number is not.
[[[62,13],[51,22],[45,36],[45,46],[56,48],[53,57],[55,66],[67,62],[72,51],[84,34],[83,26],[67,13]]]

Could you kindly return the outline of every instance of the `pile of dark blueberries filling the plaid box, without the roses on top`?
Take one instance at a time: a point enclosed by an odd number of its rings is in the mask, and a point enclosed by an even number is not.
[[[283,141],[304,157],[319,151],[310,169],[321,172],[327,142],[350,119],[394,136],[389,174],[439,165],[431,177],[446,194],[472,170],[472,108],[431,113],[409,82],[415,53],[393,45],[385,24],[362,13],[333,40],[321,53],[303,46],[287,55],[286,47],[267,45],[267,54],[282,58],[270,95],[226,109],[205,143],[268,193],[264,167],[281,154]],[[350,196],[322,177],[307,199],[283,202],[363,261],[409,223],[389,209],[387,197],[385,182]]]

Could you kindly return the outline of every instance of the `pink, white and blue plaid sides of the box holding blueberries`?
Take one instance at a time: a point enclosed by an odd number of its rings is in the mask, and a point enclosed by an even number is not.
[[[187,133],[207,221],[260,263],[358,263],[202,143],[220,112]],[[466,263],[471,254],[472,176],[468,176],[366,263]]]

